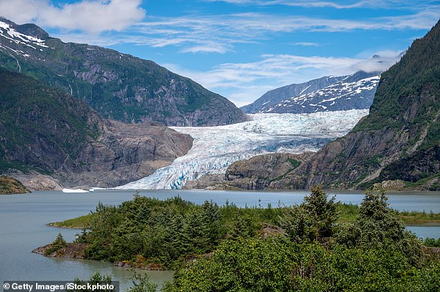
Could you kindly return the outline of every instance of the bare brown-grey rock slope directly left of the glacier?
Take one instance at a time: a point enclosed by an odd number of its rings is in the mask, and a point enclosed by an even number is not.
[[[66,169],[67,185],[114,187],[149,176],[192,147],[192,138],[159,124],[110,122],[101,137],[78,156],[83,167]],[[62,179],[65,174],[57,174]]]

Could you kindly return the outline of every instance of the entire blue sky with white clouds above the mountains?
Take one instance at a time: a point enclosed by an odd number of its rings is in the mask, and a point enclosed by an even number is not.
[[[384,71],[439,21],[440,1],[0,0],[0,15],[152,60],[241,107],[287,84]]]

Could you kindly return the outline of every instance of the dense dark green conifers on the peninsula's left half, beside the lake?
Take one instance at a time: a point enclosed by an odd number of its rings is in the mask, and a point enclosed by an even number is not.
[[[171,268],[176,259],[210,253],[224,239],[255,237],[264,225],[276,225],[286,210],[219,207],[212,201],[196,206],[180,197],[160,201],[135,195],[117,207],[99,203],[87,217],[88,231],[76,241],[90,244],[85,250],[90,259]]]

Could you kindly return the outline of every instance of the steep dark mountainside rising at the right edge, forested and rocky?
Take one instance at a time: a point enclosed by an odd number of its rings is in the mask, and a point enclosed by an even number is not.
[[[369,116],[275,188],[440,189],[440,23],[382,73]]]

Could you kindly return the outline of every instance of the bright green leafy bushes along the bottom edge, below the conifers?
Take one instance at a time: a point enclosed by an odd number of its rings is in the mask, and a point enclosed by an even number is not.
[[[224,242],[176,271],[165,291],[437,291],[439,271],[414,268],[391,246],[329,250],[268,237]]]

